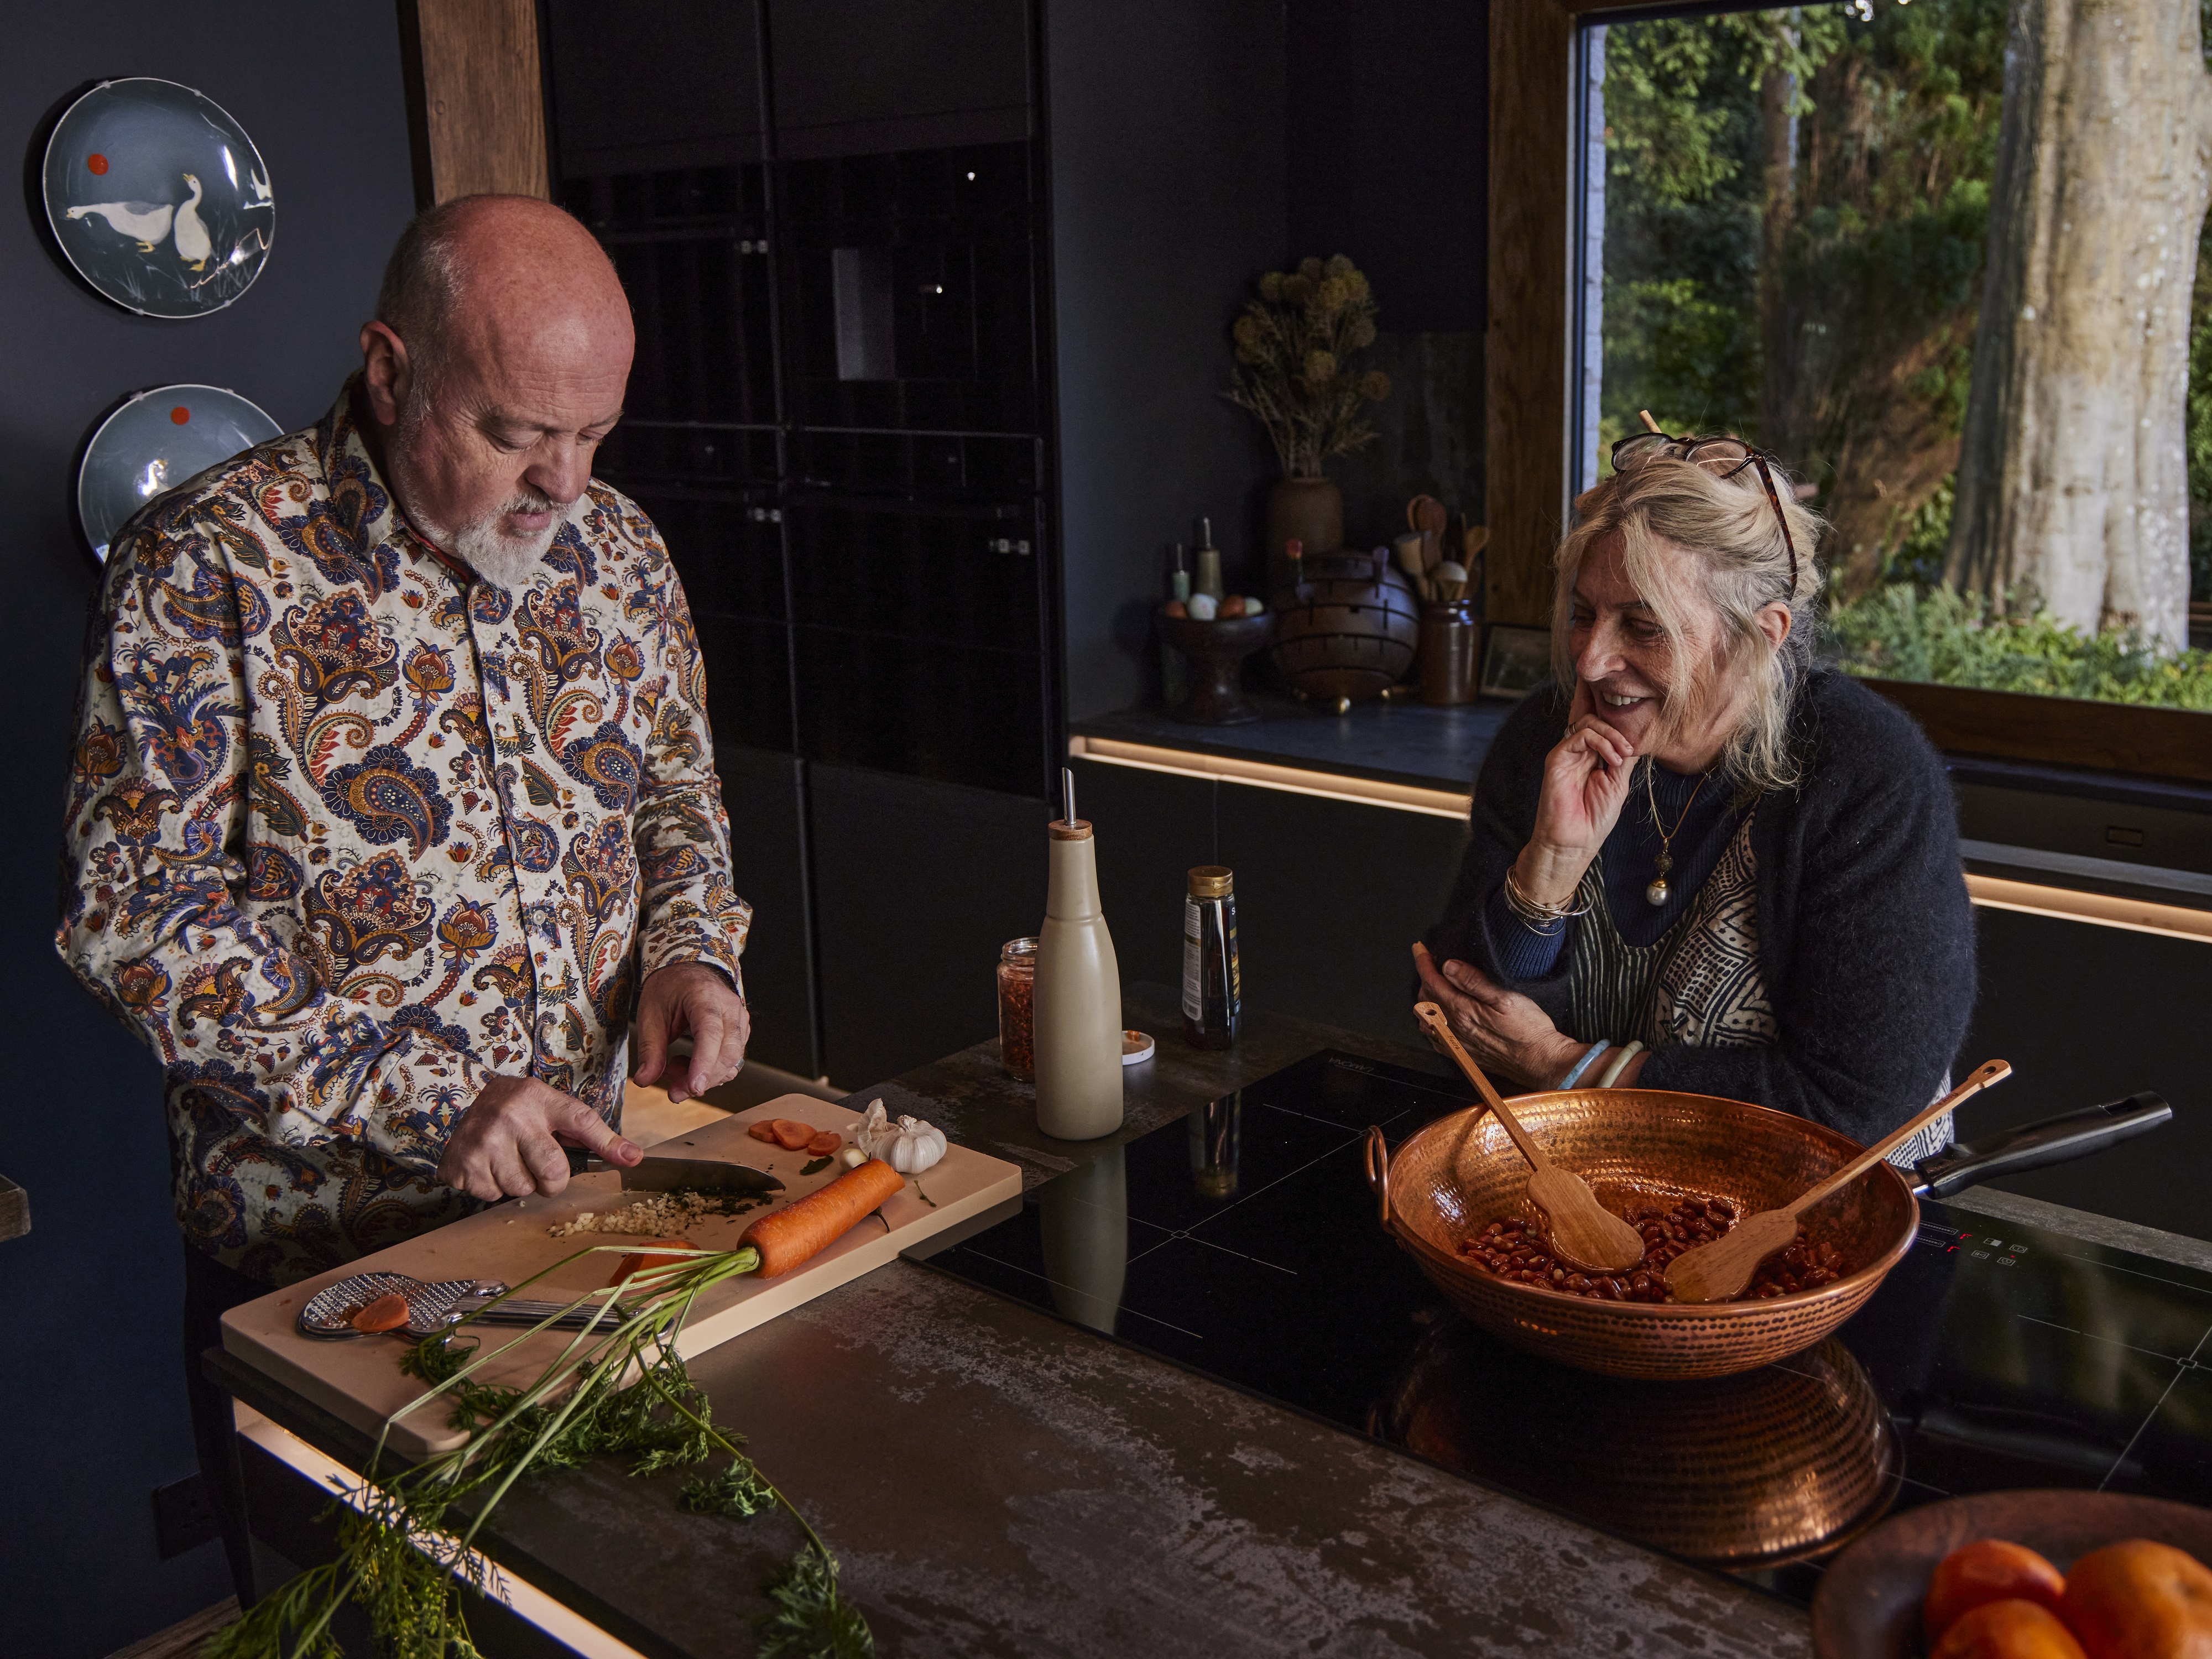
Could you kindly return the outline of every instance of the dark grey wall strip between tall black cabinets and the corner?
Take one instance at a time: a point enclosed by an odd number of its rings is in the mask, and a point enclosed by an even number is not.
[[[1046,0],[1068,717],[1157,697],[1150,606],[1210,513],[1232,582],[1272,471],[1221,398],[1287,239],[1281,0]]]

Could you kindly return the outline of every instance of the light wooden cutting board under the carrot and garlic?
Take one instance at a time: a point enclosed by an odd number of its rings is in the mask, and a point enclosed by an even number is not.
[[[664,1157],[721,1157],[752,1164],[781,1177],[783,1194],[772,1206],[750,1210],[741,1217],[708,1217],[686,1234],[706,1250],[734,1250],[739,1234],[772,1208],[803,1199],[807,1192],[827,1186],[845,1166],[836,1159],[816,1175],[799,1170],[812,1159],[805,1152],[785,1152],[772,1141],[752,1139],[745,1128],[763,1117],[794,1117],[814,1128],[830,1128],[845,1135],[858,1119],[843,1106],[810,1095],[783,1095],[765,1106],[737,1113],[719,1124],[677,1135],[650,1148]],[[692,1316],[684,1325],[677,1349],[690,1358],[717,1343],[752,1329],[754,1325],[785,1314],[825,1290],[836,1290],[860,1274],[891,1261],[900,1250],[920,1239],[958,1225],[1006,1201],[1022,1197],[1022,1170],[1004,1159],[987,1157],[967,1146],[949,1146],[945,1159],[920,1177],[927,1201],[916,1192],[914,1179],[889,1199],[876,1217],[865,1219],[834,1245],[801,1267],[776,1279],[743,1276],[714,1285],[692,1305]],[[358,1272],[396,1272],[414,1279],[502,1279],[520,1287],[531,1274],[553,1267],[564,1256],[573,1256],[586,1245],[617,1245],[615,1252],[577,1256],[557,1272],[531,1285],[526,1296],[549,1301],[571,1301],[584,1290],[604,1285],[622,1250],[635,1250],[639,1241],[622,1234],[577,1234],[571,1239],[549,1239],[546,1228],[575,1219],[584,1210],[619,1210],[646,1194],[624,1194],[622,1177],[580,1175],[557,1199],[509,1199],[482,1210],[449,1228],[425,1232],[420,1239],[378,1250],[374,1256],[349,1261],[299,1285],[272,1292],[223,1314],[223,1349],[237,1354],[257,1371],[283,1383],[292,1391],[314,1400],[325,1411],[336,1413],[363,1433],[378,1433],[385,1420],[414,1400],[422,1385],[398,1369],[407,1347],[405,1336],[349,1336],[341,1340],[303,1336],[296,1321],[299,1310],[325,1285]],[[936,1208],[931,1208],[931,1201]],[[484,1338],[482,1352],[515,1343],[518,1327],[471,1325]],[[571,1332],[544,1332],[529,1336],[478,1376],[487,1383],[526,1385],[544,1374],[546,1365],[573,1340]],[[422,1411],[392,1425],[387,1444],[403,1458],[425,1458],[460,1444],[467,1436],[445,1422],[445,1409],[429,1405]]]

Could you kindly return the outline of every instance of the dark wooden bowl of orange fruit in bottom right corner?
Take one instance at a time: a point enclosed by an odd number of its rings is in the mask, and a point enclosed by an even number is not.
[[[1927,1504],[1838,1555],[1818,1659],[2212,1659],[2212,1511],[2093,1491]]]

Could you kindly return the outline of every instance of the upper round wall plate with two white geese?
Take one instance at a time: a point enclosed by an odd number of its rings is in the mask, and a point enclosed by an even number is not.
[[[173,80],[104,80],[46,139],[46,221],[77,274],[139,316],[206,316],[252,288],[276,237],[261,150]]]

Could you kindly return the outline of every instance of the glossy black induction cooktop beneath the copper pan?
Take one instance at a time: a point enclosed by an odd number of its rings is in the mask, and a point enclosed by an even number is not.
[[[1327,1051],[907,1254],[1455,1473],[1809,1599],[1898,1509],[2079,1486],[2212,1504],[2212,1274],[1942,1203],[1827,1343],[1624,1383],[1462,1321],[1360,1137],[1471,1104]]]

